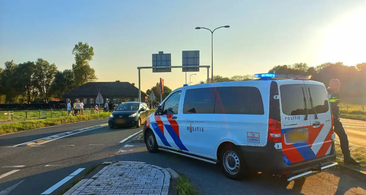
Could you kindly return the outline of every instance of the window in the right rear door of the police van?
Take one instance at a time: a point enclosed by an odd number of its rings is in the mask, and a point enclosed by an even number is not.
[[[309,99],[310,99],[309,95],[309,89],[310,89],[311,99],[313,99],[313,104],[317,114],[328,112],[329,105],[325,87],[321,85],[308,85],[308,84],[305,84],[305,86],[307,90],[307,96],[309,97]],[[315,114],[314,110],[310,109],[309,114]]]

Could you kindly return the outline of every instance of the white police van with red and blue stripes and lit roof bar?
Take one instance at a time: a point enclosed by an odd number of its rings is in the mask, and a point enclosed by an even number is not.
[[[254,171],[292,181],[336,167],[324,84],[306,75],[254,77],[175,89],[145,123],[147,150],[219,164],[235,180]]]

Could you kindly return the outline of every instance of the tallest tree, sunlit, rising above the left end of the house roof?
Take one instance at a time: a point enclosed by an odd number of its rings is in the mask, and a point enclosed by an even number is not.
[[[75,76],[76,87],[90,81],[96,81],[94,68],[91,68],[89,62],[93,60],[94,49],[88,43],[79,42],[71,52],[75,56],[75,63],[72,64],[72,72]]]

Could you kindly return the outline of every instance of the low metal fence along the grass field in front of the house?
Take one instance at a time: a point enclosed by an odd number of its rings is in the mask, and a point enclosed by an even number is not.
[[[74,112],[73,110],[71,112]],[[83,115],[96,113],[95,108],[84,108]],[[0,121],[44,119],[67,116],[67,109],[0,111]],[[70,113],[71,115],[71,113]]]

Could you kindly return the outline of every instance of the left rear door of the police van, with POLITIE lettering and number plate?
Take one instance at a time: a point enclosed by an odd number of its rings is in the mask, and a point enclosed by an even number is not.
[[[285,164],[316,158],[311,150],[309,100],[303,80],[279,80],[282,153]],[[310,89],[311,90],[311,89]]]

